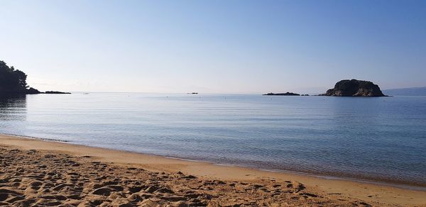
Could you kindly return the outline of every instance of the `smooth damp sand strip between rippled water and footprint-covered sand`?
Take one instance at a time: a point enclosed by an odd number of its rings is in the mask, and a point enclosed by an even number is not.
[[[426,205],[426,192],[416,189],[402,189],[380,183],[363,182],[345,179],[327,179],[315,175],[292,172],[271,172],[248,167],[224,166],[202,161],[182,160],[180,158],[147,155],[137,152],[109,150],[99,147],[75,145],[69,142],[39,140],[23,136],[0,134],[0,145],[18,147],[23,150],[40,150],[45,152],[65,153],[66,155],[90,156],[92,160],[114,162],[121,166],[136,165],[144,169],[159,172],[183,172],[197,177],[221,179],[226,181],[298,181],[309,189],[329,196],[349,196],[368,202],[386,205]]]

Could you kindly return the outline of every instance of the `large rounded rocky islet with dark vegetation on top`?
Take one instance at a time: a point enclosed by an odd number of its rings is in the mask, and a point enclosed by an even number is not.
[[[334,85],[334,89],[327,90],[321,96],[385,96],[378,85],[373,82],[360,81],[356,79],[342,80]]]

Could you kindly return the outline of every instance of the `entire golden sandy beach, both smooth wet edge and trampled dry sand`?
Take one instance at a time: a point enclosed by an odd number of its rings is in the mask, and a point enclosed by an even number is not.
[[[0,206],[426,206],[426,191],[0,135]]]

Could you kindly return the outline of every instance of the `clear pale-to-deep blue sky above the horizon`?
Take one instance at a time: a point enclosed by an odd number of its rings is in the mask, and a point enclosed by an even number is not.
[[[0,60],[45,90],[426,85],[426,1],[1,1]]]

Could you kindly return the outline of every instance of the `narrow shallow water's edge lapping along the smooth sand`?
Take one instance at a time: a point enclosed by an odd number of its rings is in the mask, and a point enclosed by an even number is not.
[[[24,136],[24,135],[15,135],[15,134],[7,134],[7,133],[0,133],[1,135],[6,136],[12,136],[16,138],[24,138],[24,139],[33,139],[33,140],[41,140],[46,142],[62,142],[67,143],[70,145],[77,145],[77,146],[83,146],[83,147],[93,147],[89,145],[83,145],[74,143],[68,140],[61,140],[61,139],[49,139],[49,138],[37,138],[37,137],[31,137],[31,136]],[[346,175],[350,174],[337,174],[337,173],[315,173],[315,172],[302,172],[302,171],[293,171],[293,170],[287,170],[287,169],[267,169],[267,168],[261,168],[261,167],[251,167],[246,166],[244,164],[224,164],[224,163],[217,163],[217,162],[211,162],[208,160],[195,160],[195,159],[188,159],[188,158],[182,158],[182,157],[173,157],[173,156],[165,156],[165,155],[156,155],[156,154],[150,154],[150,153],[144,153],[144,152],[134,152],[130,150],[119,150],[119,149],[111,149],[106,147],[96,147],[95,148],[101,148],[106,150],[116,150],[119,152],[129,152],[129,153],[136,153],[141,155],[148,155],[148,156],[158,156],[158,157],[165,157],[167,159],[173,159],[173,160],[182,160],[187,162],[201,162],[201,163],[208,163],[208,164],[214,164],[217,166],[224,166],[224,167],[242,167],[247,169],[253,169],[253,170],[259,170],[263,172],[276,172],[276,173],[284,173],[284,174],[295,174],[300,176],[307,176],[307,177],[317,177],[320,179],[328,179],[328,180],[342,180],[342,181],[355,181],[355,182],[361,182],[366,184],[376,184],[381,186],[392,186],[400,189],[408,189],[408,190],[414,190],[414,191],[426,191],[426,184],[418,184],[418,182],[408,182],[408,181],[397,181],[392,179],[373,179],[372,177],[349,177]]]

